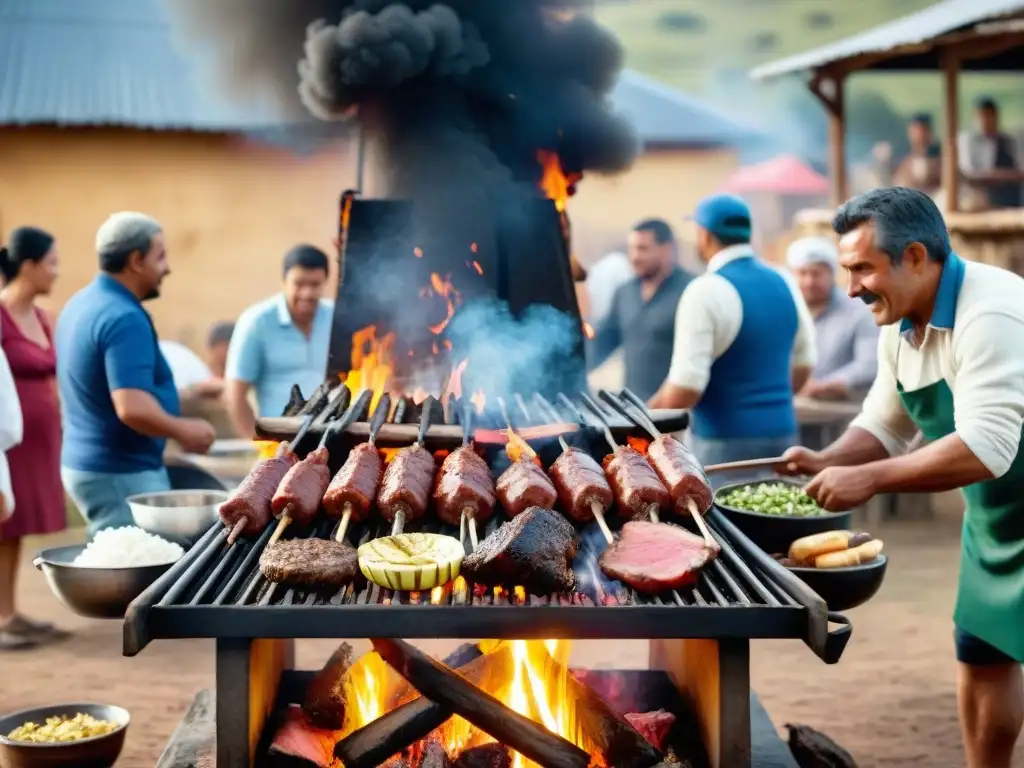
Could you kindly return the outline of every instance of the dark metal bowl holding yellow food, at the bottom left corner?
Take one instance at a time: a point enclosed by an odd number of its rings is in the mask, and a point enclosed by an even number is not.
[[[42,723],[51,717],[91,715],[117,723],[117,730],[78,741],[31,743],[13,741],[7,734],[28,722]],[[0,766],[3,768],[111,768],[125,743],[131,717],[127,710],[96,703],[66,703],[36,707],[0,718]]]

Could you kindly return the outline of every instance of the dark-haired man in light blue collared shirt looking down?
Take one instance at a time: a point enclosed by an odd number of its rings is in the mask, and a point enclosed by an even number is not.
[[[246,309],[227,349],[225,396],[241,437],[256,436],[255,390],[261,416],[281,416],[292,385],[307,397],[324,383],[334,323],[334,302],[324,298],[328,257],[313,246],[295,246],[283,267],[276,296]]]

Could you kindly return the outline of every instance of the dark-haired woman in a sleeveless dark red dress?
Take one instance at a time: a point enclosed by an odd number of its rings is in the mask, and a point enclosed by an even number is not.
[[[7,452],[14,513],[0,524],[0,651],[30,647],[62,634],[16,609],[22,539],[67,527],[60,484],[60,410],[50,323],[35,302],[57,278],[52,236],[35,227],[11,232],[0,249],[0,345],[22,402],[22,443]]]

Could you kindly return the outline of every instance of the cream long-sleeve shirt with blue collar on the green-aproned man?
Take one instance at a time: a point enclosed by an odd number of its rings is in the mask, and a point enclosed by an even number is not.
[[[912,331],[899,325],[883,329],[879,375],[851,426],[870,432],[890,455],[901,454],[918,428],[897,381],[911,392],[945,380],[956,435],[999,477],[1017,457],[1024,426],[1024,279],[987,264],[961,263],[959,291],[943,274],[920,346],[912,343]]]

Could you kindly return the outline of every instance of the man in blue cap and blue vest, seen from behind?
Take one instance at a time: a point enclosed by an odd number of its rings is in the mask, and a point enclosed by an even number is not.
[[[679,300],[672,366],[650,406],[691,409],[705,464],[779,456],[797,435],[793,394],[814,366],[814,322],[796,284],[755,255],[741,199],[707,198],[692,219],[708,271]]]

